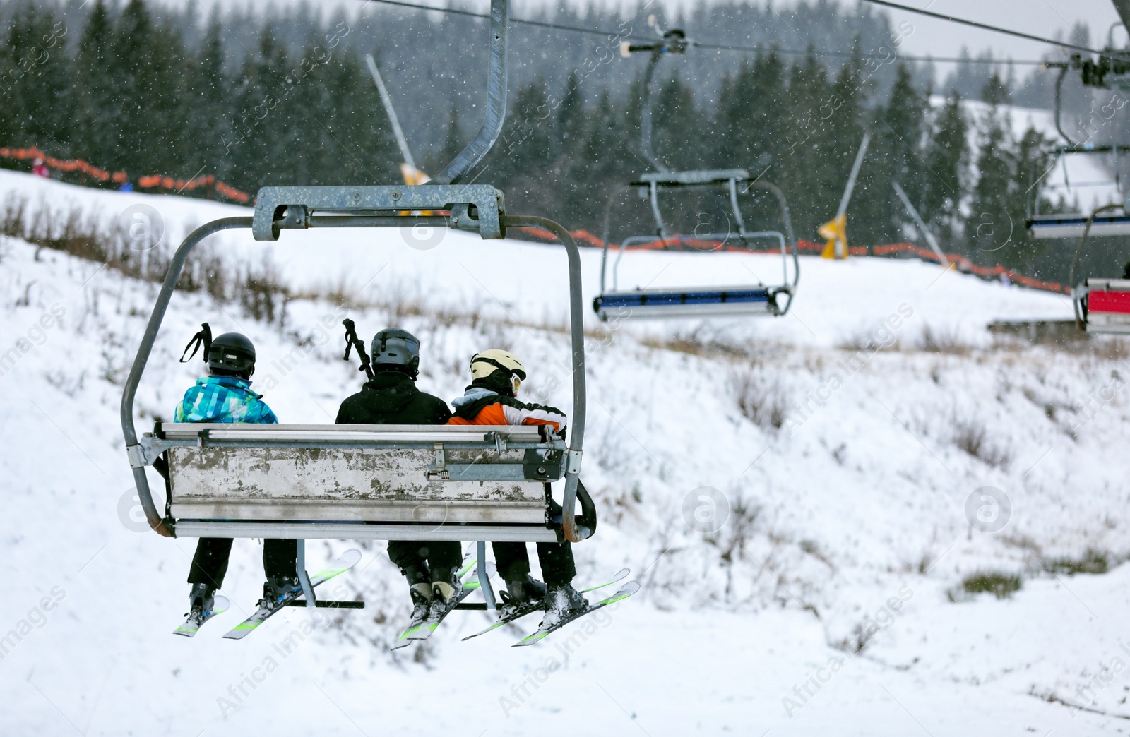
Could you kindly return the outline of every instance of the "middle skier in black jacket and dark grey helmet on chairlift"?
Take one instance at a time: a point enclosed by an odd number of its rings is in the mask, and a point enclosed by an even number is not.
[[[351,322],[348,323],[351,329]],[[355,333],[353,335],[356,338]],[[355,344],[356,345],[356,344]],[[346,398],[338,409],[339,425],[444,425],[451,417],[447,402],[416,388],[420,366],[420,341],[400,328],[385,328],[371,344],[372,379]],[[364,354],[364,347],[358,346]],[[348,355],[348,354],[347,354]],[[408,579],[414,626],[434,607],[440,614],[460,592],[455,572],[462,563],[462,546],[454,541],[390,540],[389,558]]]

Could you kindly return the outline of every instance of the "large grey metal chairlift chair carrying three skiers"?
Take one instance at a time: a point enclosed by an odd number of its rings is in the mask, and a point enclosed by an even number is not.
[[[502,192],[458,184],[490,149],[506,106],[507,0],[492,0],[486,116],[475,140],[433,183],[392,187],[267,187],[253,217],[227,217],[193,231],[174,253],[130,368],[122,433],[150,527],[168,537],[475,540],[488,608],[485,543],[581,541],[596,509],[580,482],[585,423],[581,258],[568,232],[546,218],[507,216]],[[447,211],[447,216],[411,216]],[[209,425],[134,427],[133,401],[157,332],[191,251],[215,233],[250,228],[258,241],[282,231],[406,227],[415,224],[504,239],[507,227],[548,231],[568,261],[573,416],[565,441],[527,426]],[[146,467],[167,466],[159,512]],[[564,479],[553,515],[549,484]],[[577,513],[577,498],[581,511]],[[302,567],[302,566],[299,566]],[[304,579],[304,571],[299,578]],[[307,587],[304,587],[307,588]],[[308,588],[307,588],[308,591]],[[314,606],[307,593],[307,606]]]

